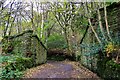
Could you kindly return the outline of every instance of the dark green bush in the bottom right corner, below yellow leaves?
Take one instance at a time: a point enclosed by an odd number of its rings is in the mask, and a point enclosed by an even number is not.
[[[98,60],[97,73],[105,80],[118,79],[120,80],[120,64],[115,63],[109,58]]]

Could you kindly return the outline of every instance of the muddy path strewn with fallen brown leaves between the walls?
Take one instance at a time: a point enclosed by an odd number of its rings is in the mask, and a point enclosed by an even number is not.
[[[94,78],[98,76],[74,61],[48,61],[28,69],[24,78]]]

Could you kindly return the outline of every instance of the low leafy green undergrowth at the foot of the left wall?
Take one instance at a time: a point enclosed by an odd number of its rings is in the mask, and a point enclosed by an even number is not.
[[[1,78],[20,78],[23,75],[23,70],[33,66],[31,58],[4,56],[2,60]]]

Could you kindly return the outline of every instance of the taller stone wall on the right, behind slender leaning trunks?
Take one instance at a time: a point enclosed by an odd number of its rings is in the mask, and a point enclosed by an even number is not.
[[[104,9],[100,9],[101,17],[102,17],[102,24],[105,28],[105,20],[104,20]],[[117,44],[120,44],[120,2],[119,3],[113,3],[110,6],[107,6],[107,18],[108,18],[108,25],[110,29],[110,35],[112,39],[116,40]],[[105,31],[105,36],[107,36],[107,33]],[[99,35],[99,34],[98,34]],[[97,58],[99,57],[99,53],[101,52],[95,52],[94,46],[97,47],[94,43],[96,43],[96,38],[94,36],[94,33],[91,32],[91,29],[89,28],[87,35],[85,36],[85,39],[83,40],[83,43],[81,44],[79,48],[80,53],[80,62],[88,67],[89,69],[97,69]],[[87,45],[84,45],[87,44]],[[94,44],[94,45],[93,45]],[[93,45],[93,48],[90,48],[90,45]],[[92,52],[93,50],[93,52]],[[99,51],[99,50],[98,50]],[[94,54],[98,53],[98,54]]]

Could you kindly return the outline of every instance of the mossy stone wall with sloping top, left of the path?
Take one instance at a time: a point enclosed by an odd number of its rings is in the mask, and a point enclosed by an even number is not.
[[[42,44],[37,35],[33,35],[32,30],[25,31],[15,36],[6,36],[2,42],[2,54],[10,53],[31,57],[35,65],[46,62],[46,47]]]

